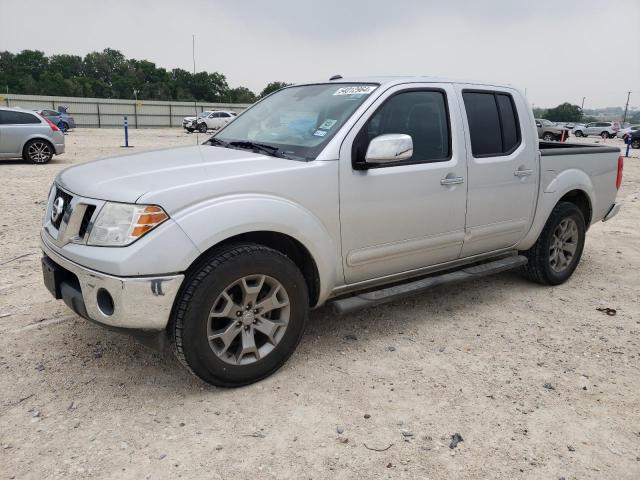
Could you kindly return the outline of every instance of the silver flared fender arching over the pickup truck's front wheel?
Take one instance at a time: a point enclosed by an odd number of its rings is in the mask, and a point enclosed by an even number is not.
[[[231,195],[190,207],[174,216],[200,252],[251,232],[288,235],[304,245],[320,277],[319,303],[340,281],[340,247],[322,221],[303,206],[270,195]]]

